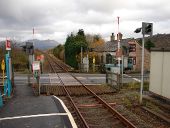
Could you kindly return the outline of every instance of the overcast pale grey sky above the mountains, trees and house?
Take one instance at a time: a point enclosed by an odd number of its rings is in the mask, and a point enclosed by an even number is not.
[[[117,16],[124,38],[141,37],[134,30],[153,22],[154,34],[170,33],[169,0],[0,0],[0,40],[54,39],[84,29],[106,41],[117,33]]]

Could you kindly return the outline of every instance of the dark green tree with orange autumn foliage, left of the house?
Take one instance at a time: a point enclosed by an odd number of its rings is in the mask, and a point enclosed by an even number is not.
[[[92,49],[97,46],[103,45],[104,40],[100,35],[85,34],[83,29],[79,29],[77,33],[71,33],[67,36],[64,45],[58,45],[53,49],[53,54],[61,60],[65,60],[65,63],[78,69],[80,63],[81,47],[83,49],[83,56],[89,55],[89,61],[91,62],[93,57],[97,59],[97,53]]]

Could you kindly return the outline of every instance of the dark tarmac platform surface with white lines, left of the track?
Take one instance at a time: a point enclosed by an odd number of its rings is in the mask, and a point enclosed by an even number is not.
[[[13,97],[0,109],[0,128],[77,128],[55,96],[35,96],[25,82],[15,82]]]

